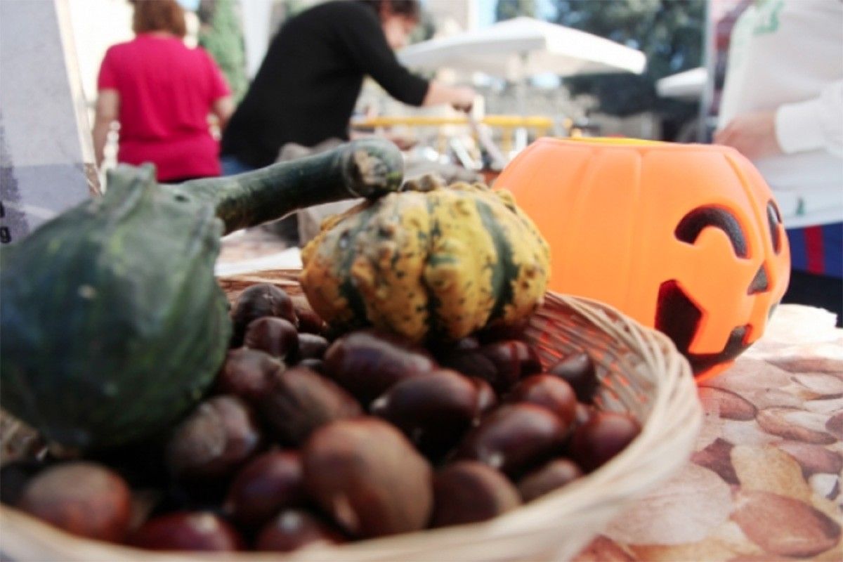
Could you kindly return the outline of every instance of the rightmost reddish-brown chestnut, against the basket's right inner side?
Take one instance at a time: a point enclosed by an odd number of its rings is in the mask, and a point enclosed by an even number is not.
[[[620,412],[594,412],[574,430],[571,457],[591,472],[621,452],[641,432],[638,421]]]

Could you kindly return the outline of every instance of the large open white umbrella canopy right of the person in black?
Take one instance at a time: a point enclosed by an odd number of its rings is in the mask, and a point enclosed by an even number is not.
[[[561,76],[644,69],[642,51],[534,18],[507,19],[483,29],[422,41],[399,51],[409,67],[486,72],[513,81],[544,72]]]

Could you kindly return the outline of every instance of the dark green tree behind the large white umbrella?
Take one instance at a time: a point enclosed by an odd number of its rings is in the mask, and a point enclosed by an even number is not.
[[[632,115],[655,111],[681,122],[696,113],[695,103],[659,98],[655,83],[702,63],[706,21],[703,0],[554,0],[556,23],[582,29],[644,52],[647,67],[629,73],[565,79],[572,95],[592,94],[599,111]]]

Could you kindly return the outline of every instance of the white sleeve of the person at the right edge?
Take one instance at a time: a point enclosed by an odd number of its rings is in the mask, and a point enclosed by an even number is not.
[[[776,140],[786,154],[825,149],[843,156],[843,80],[823,88],[819,98],[780,105]]]

